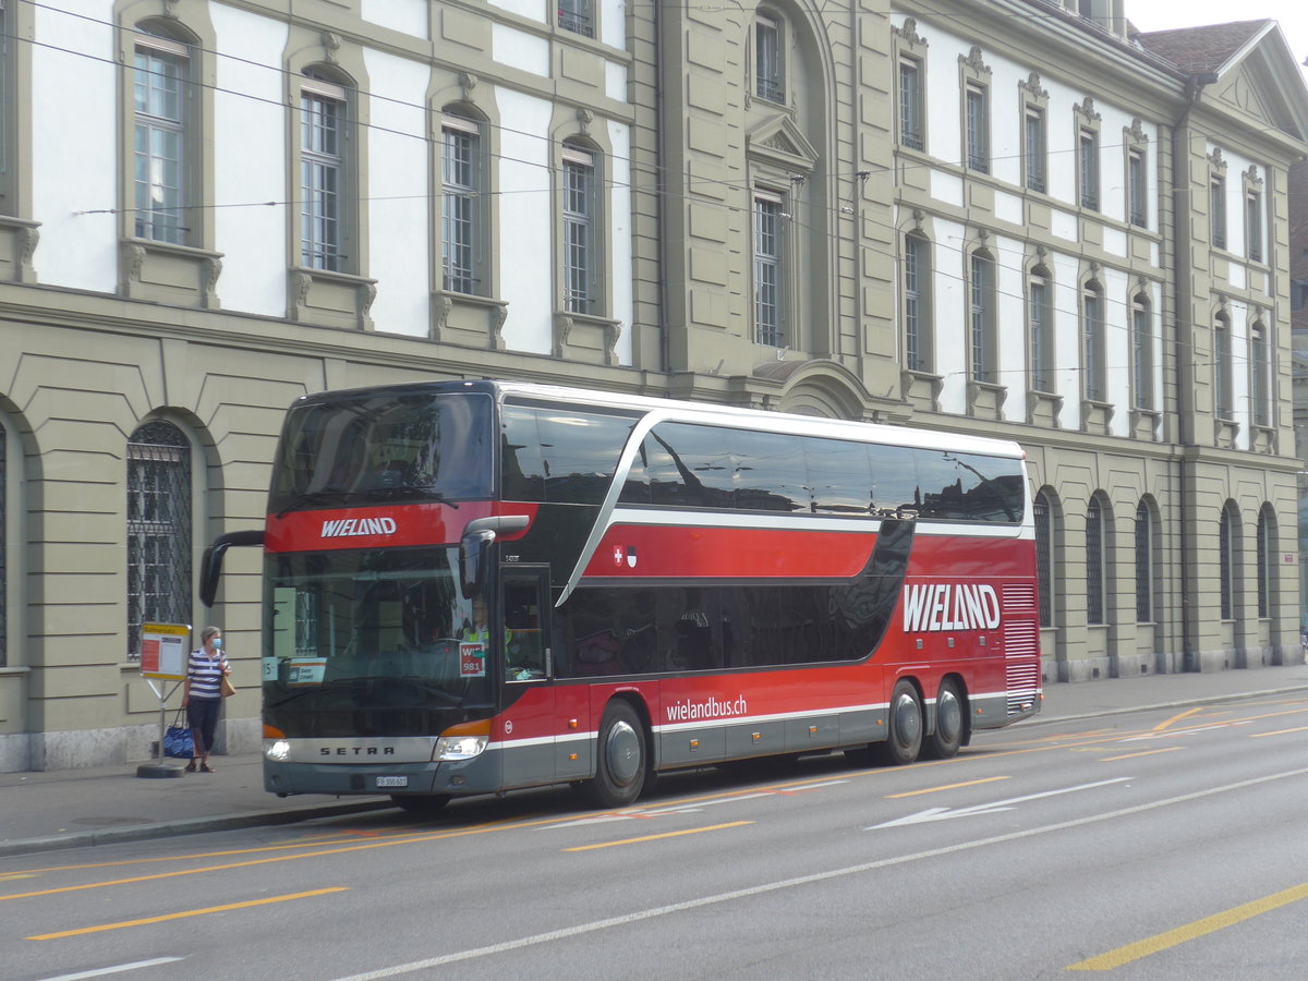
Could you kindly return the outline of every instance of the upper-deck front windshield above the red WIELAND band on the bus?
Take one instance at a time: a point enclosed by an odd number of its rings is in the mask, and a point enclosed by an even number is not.
[[[484,392],[344,392],[293,405],[275,462],[269,513],[487,498],[492,415]]]

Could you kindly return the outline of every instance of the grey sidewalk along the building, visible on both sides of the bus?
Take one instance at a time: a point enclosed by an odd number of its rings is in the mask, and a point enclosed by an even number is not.
[[[1308,664],[1213,674],[1050,683],[1022,726],[1308,691]],[[984,738],[984,735],[982,735]],[[174,761],[169,761],[174,763]],[[175,835],[292,824],[391,807],[386,797],[279,798],[263,789],[258,753],[215,756],[215,773],[144,778],[139,764],[0,773],[0,857]]]

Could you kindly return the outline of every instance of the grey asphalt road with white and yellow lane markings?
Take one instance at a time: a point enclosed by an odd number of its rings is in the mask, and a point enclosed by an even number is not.
[[[0,976],[1299,978],[1305,746],[1300,695],[13,857]]]

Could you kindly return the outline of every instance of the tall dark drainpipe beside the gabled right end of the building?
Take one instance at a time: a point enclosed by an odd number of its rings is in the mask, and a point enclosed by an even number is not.
[[[1188,76],[1185,80],[1185,107],[1181,110],[1181,115],[1177,116],[1176,122],[1172,124],[1172,281],[1175,284],[1173,302],[1176,310],[1173,343],[1176,345],[1175,361],[1179,407],[1181,402],[1180,394],[1182,391],[1194,390],[1194,358],[1190,354],[1190,345],[1186,343],[1186,339],[1181,336],[1181,317],[1184,314],[1186,323],[1190,322],[1194,293],[1190,280],[1193,273],[1189,268],[1188,252],[1182,252],[1181,250],[1181,242],[1189,241],[1182,225],[1181,203],[1185,203],[1184,215],[1186,217],[1193,216],[1194,213],[1190,198],[1190,149],[1188,127],[1190,123],[1190,112],[1193,111],[1196,103],[1198,103],[1203,86],[1210,85],[1216,80],[1218,76],[1211,72]],[[1186,335],[1189,335],[1189,331],[1186,331]],[[1193,578],[1190,570],[1190,518],[1185,506],[1186,496],[1189,494],[1189,462],[1186,460],[1186,455],[1189,447],[1196,446],[1193,404],[1189,408],[1192,411],[1177,412],[1177,421],[1180,424],[1177,437],[1181,442],[1181,455],[1177,460],[1177,510],[1180,513],[1177,536],[1180,539],[1179,548],[1181,551],[1181,670],[1198,671],[1198,653],[1194,650],[1194,630],[1190,624],[1190,582]]]

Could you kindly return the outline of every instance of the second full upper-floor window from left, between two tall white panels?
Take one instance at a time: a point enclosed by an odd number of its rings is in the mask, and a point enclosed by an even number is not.
[[[320,80],[300,92],[300,262],[340,272],[345,90]]]

